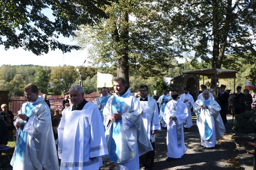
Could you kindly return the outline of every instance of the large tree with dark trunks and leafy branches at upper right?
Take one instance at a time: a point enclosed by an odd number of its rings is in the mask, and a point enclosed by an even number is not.
[[[158,2],[162,15],[170,20],[167,31],[173,33],[180,49],[196,52],[194,60],[200,57],[212,67],[216,62],[216,67],[221,68],[225,55],[255,56],[255,0]]]

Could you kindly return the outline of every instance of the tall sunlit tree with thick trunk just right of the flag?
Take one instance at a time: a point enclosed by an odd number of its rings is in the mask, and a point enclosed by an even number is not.
[[[142,77],[163,75],[156,67],[171,67],[180,57],[172,45],[168,23],[149,0],[120,0],[105,9],[108,19],[93,27],[81,26],[76,40],[87,48],[94,64],[113,64],[129,86],[129,72]]]

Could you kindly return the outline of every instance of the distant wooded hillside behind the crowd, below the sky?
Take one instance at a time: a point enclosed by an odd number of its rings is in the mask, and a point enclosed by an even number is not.
[[[225,68],[230,69],[233,67],[232,62],[234,56],[229,55],[224,60]],[[236,86],[244,87],[245,80],[254,83],[253,77],[250,77],[250,70],[255,67],[255,64],[250,64],[247,59],[238,58],[239,66],[237,70]],[[194,63],[197,67],[193,67]],[[169,64],[174,65],[173,68],[162,68],[156,67],[165,77],[177,77],[182,75],[183,69],[201,69],[204,68],[205,63],[200,63],[196,61],[186,61],[185,63],[177,63],[175,59],[169,61]],[[184,68],[183,68],[184,67]],[[42,93],[48,94],[49,89],[47,86],[49,83],[53,84],[53,89],[51,89],[51,94],[60,95],[67,92],[69,88],[75,84],[79,84],[79,73],[76,69],[80,69],[82,75],[83,87],[85,94],[90,94],[97,91],[97,72],[104,74],[112,74],[116,77],[116,67],[82,67],[82,66],[37,66],[37,65],[2,65],[0,66],[0,90],[9,90],[10,96],[22,96],[24,94],[23,88],[28,83],[34,83],[38,86],[38,89]],[[154,75],[149,78],[143,78],[138,76],[137,73],[130,74],[130,90],[135,92],[139,89],[140,85],[146,84],[149,88],[150,94],[153,94],[154,90],[158,90],[158,94],[162,93],[163,88],[167,88],[165,82],[163,82],[163,76]],[[202,78],[202,77],[201,77]],[[9,81],[6,81],[9,80]],[[221,80],[228,89],[233,89],[233,79],[223,79]],[[183,83],[183,82],[182,82]],[[175,84],[174,86],[175,87]],[[113,90],[113,88],[109,89]]]

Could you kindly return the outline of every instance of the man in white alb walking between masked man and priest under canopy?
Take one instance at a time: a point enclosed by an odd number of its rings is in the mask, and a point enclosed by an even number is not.
[[[184,130],[187,131],[188,128],[193,126],[191,108],[193,107],[194,104],[194,98],[189,94],[188,87],[184,88],[184,93],[181,95],[180,100],[187,106],[188,117],[184,122]]]

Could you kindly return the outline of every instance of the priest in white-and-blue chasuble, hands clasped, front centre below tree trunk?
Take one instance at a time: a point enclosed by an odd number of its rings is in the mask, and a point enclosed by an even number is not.
[[[138,99],[122,77],[113,80],[115,93],[103,110],[109,160],[117,169],[140,169],[139,156],[152,151]]]

